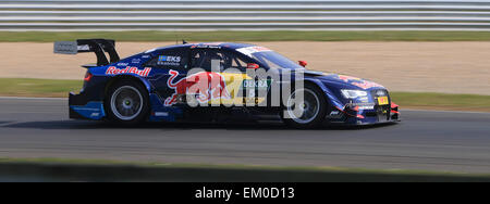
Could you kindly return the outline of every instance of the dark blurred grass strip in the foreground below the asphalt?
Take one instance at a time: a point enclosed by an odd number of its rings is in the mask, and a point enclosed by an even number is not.
[[[26,169],[27,168],[27,169]],[[137,173],[137,174],[135,174]],[[339,182],[489,181],[489,174],[343,167],[287,167],[121,162],[70,158],[0,158],[2,178],[49,181]]]

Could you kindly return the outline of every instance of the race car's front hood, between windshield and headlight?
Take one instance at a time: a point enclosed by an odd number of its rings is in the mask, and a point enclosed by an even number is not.
[[[329,74],[329,73],[306,71],[305,77],[319,79],[323,84],[342,89],[360,89],[360,90],[384,89],[383,86],[377,82],[341,74]]]

